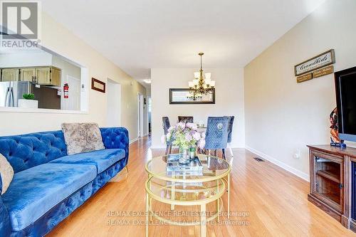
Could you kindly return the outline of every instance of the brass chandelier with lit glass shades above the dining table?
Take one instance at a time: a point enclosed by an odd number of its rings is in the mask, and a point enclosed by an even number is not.
[[[199,53],[200,56],[200,70],[199,72],[194,73],[194,80],[189,81],[189,92],[196,95],[208,95],[208,93],[212,94],[214,92],[215,81],[211,80],[211,73],[204,73],[205,79],[203,77],[203,69],[201,63],[201,56],[204,53]]]

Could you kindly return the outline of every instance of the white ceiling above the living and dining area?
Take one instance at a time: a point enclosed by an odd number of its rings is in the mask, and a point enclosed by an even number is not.
[[[137,80],[150,68],[244,67],[325,0],[43,0]],[[145,84],[145,83],[142,83]]]

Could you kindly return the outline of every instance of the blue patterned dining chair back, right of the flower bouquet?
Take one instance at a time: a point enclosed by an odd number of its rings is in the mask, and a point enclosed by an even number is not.
[[[227,146],[228,128],[228,117],[208,117],[205,149],[225,149]]]

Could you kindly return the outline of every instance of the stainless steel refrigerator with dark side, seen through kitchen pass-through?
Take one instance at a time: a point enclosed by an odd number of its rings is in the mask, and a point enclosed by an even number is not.
[[[38,107],[43,109],[61,109],[61,96],[56,88],[35,85],[28,81],[0,82],[0,106],[18,107],[23,94],[32,93],[38,100]]]

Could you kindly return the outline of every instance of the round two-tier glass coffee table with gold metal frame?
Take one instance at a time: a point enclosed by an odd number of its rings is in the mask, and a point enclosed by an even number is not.
[[[178,226],[201,226],[201,236],[206,236],[206,222],[215,218],[219,221],[219,212],[223,202],[221,196],[228,191],[228,218],[230,217],[230,172],[231,166],[226,160],[210,155],[198,155],[203,170],[190,172],[179,170],[167,172],[168,156],[154,157],[147,162],[145,169],[148,179],[146,189],[146,236],[148,236],[149,218],[157,218],[163,223]],[[227,177],[227,179],[226,179]],[[171,210],[175,206],[200,206],[199,221],[174,221],[160,216],[159,211],[152,210],[152,199],[163,204],[169,204]],[[206,215],[206,205],[215,202],[216,210],[211,216]]]

